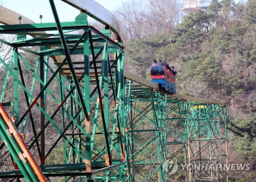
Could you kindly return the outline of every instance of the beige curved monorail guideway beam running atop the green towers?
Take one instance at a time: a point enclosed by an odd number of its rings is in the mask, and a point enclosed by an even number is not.
[[[120,32],[120,25],[116,17],[110,13],[106,8],[95,2],[94,0],[62,0],[63,2],[66,2],[70,4],[71,6],[74,6],[76,9],[81,10],[82,12],[88,13],[89,16],[94,18],[95,20],[98,20],[105,26],[108,26],[111,28],[111,30],[115,33],[117,38],[120,38],[119,32]],[[6,24],[6,25],[13,25],[13,24],[35,24],[32,20],[29,18],[26,18],[22,16],[21,14],[18,14],[16,12],[13,12],[12,10],[9,10],[7,8],[4,8],[3,6],[0,6],[0,23]],[[17,17],[21,16],[22,20],[18,20]],[[94,29],[91,26],[91,29],[94,30],[95,32],[98,32],[98,30]],[[51,34],[46,34],[46,32],[41,32],[43,36],[50,36]],[[36,36],[35,34],[31,34],[32,36]],[[39,34],[37,34],[38,36]],[[107,39],[107,37],[104,37]],[[112,44],[115,44],[112,42]],[[52,47],[54,48],[54,47]],[[60,50],[60,49],[59,49]],[[61,63],[62,60],[60,59],[59,56],[52,56],[53,59],[57,63]],[[63,67],[67,67],[64,65]],[[70,71],[68,71],[70,72]],[[129,71],[124,70],[124,76],[132,81],[136,81],[137,83],[141,83],[142,85],[151,87],[153,89],[161,90],[163,89],[160,87],[159,84],[154,83],[152,81],[148,81],[146,79],[143,79],[142,77],[139,77],[138,75],[131,73]],[[167,92],[166,92],[167,93]],[[213,100],[213,99],[203,99],[203,98],[198,98],[198,97],[190,97],[186,95],[180,95],[180,94],[174,94],[172,95],[173,97],[180,98],[186,101],[198,101],[198,102],[207,102],[207,103],[215,103],[219,105],[225,105],[223,102]]]

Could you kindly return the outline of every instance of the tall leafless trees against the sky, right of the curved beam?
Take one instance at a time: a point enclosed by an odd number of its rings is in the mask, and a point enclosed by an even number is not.
[[[124,2],[115,14],[121,23],[123,40],[172,33],[182,16],[176,0],[132,0]]]

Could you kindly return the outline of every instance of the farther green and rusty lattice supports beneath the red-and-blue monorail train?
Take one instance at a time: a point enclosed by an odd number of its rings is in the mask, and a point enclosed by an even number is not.
[[[128,181],[228,181],[226,107],[131,82],[126,92]],[[170,160],[178,161],[174,174]]]

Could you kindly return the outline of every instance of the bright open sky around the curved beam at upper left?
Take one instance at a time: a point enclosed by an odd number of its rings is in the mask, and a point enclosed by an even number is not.
[[[5,8],[21,14],[30,20],[40,23],[39,16],[42,15],[42,23],[54,22],[52,10],[48,0],[1,0]],[[114,12],[122,4],[128,0],[95,0],[104,6],[110,12]],[[79,14],[79,10],[62,2],[54,0],[60,22],[73,22]],[[18,17],[17,17],[18,18]],[[92,21],[90,19],[89,21]]]

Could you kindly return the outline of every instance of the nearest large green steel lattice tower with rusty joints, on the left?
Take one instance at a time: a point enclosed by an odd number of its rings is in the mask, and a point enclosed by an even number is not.
[[[56,13],[54,4],[51,5],[53,12]],[[122,124],[124,123],[122,122],[122,115],[124,115],[122,110],[124,108],[123,47],[120,42],[114,42],[109,38],[110,30],[107,28],[99,32],[92,26],[88,26],[87,15],[84,13],[78,15],[74,22],[60,23],[57,15],[55,18],[57,26],[56,23],[1,26],[2,34],[18,34],[18,40],[12,44],[4,42],[14,48],[9,65],[1,59],[8,70],[1,101],[5,94],[8,77],[12,76],[14,103],[5,103],[5,105],[14,105],[15,124],[22,134],[27,132],[28,125],[32,127],[34,136],[28,148],[36,147],[37,153],[34,154],[34,158],[39,158],[41,170],[47,178],[66,176],[65,180],[68,181],[74,176],[81,178],[85,176],[88,181],[91,180],[92,175],[105,172],[106,174],[102,175],[105,177],[100,180],[108,181],[109,178],[113,178],[110,176],[114,175],[116,180],[124,181],[126,165],[124,125]],[[58,30],[58,33],[38,33],[47,30]],[[74,30],[83,30],[83,34],[69,34]],[[28,31],[31,33],[26,33]],[[25,38],[24,34],[29,34],[33,38]],[[38,52],[25,49],[38,55],[36,66],[30,65],[18,51],[19,47],[32,46],[40,46]],[[70,55],[76,54],[82,54],[83,59],[72,62]],[[49,57],[56,55],[65,55],[66,58],[61,63],[55,62],[55,65],[50,65]],[[111,60],[110,57],[112,57]],[[21,65],[26,66],[26,69],[34,75],[31,85],[25,85]],[[40,84],[40,92],[35,95],[33,90],[36,82]],[[51,91],[54,83],[59,84],[58,93]],[[19,93],[20,88],[24,91],[24,95]],[[51,103],[47,104],[54,109],[52,112],[46,108],[47,97],[50,97]],[[28,107],[24,113],[19,112],[22,104]],[[110,107],[114,107],[114,112],[110,112]],[[35,121],[31,114],[31,111],[36,109],[40,110],[40,121]],[[39,131],[35,126],[38,122],[40,123]],[[62,124],[59,125],[59,123]],[[7,128],[3,129],[6,131]],[[47,131],[54,132],[54,130],[59,135],[46,150],[46,140],[50,135]],[[112,133],[116,130],[119,132]],[[6,136],[6,133],[2,135]],[[63,143],[61,154],[63,163],[47,165],[47,158],[60,142]],[[2,148],[4,148],[3,143],[0,146],[0,149]],[[15,152],[13,148],[9,150]],[[33,171],[31,166],[30,171]],[[0,174],[0,178],[19,178],[23,174],[23,171],[22,174],[18,171],[4,172]],[[31,180],[29,177],[26,179]]]

